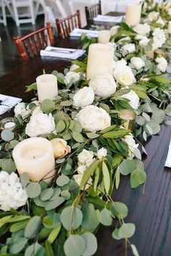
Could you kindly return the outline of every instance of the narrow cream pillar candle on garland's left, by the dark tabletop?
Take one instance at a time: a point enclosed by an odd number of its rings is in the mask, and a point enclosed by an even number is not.
[[[44,99],[56,99],[58,95],[57,76],[51,74],[39,75],[36,78],[38,88],[38,101]]]

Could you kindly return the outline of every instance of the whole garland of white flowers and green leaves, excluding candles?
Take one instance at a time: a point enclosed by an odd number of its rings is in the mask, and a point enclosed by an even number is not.
[[[122,23],[111,29],[113,76],[87,81],[86,59],[73,61],[64,74],[53,72],[60,87],[55,101],[40,104],[33,99],[14,108],[15,127],[1,132],[0,255],[93,255],[99,225],[111,226],[114,218],[118,225],[112,237],[125,239],[138,255],[129,241],[135,225],[124,220],[128,208],[111,195],[114,187],[119,189],[121,175],[130,176],[132,189],[145,183],[139,149],[146,151],[137,137],[142,134],[146,141],[159,133],[160,124],[171,115],[171,6],[146,4],[141,24],[130,28]],[[81,39],[86,49],[91,39]],[[36,83],[27,91],[33,89]],[[123,109],[137,114],[133,133],[117,116]],[[32,182],[26,173],[20,178],[15,173],[12,149],[28,136],[51,141],[57,172],[50,186],[43,179]]]

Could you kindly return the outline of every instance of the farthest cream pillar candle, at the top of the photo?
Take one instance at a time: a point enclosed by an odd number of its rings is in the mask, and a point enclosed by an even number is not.
[[[126,7],[125,22],[129,26],[135,26],[141,20],[141,4],[128,4]]]

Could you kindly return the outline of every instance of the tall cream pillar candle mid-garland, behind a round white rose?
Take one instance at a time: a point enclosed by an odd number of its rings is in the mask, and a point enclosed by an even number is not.
[[[91,44],[88,49],[87,80],[113,73],[114,48],[105,44]]]

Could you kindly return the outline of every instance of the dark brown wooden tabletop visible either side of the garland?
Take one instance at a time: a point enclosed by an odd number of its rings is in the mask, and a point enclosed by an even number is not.
[[[57,42],[57,46],[80,48],[78,38],[66,38]],[[23,102],[29,102],[33,93],[25,93],[25,86],[36,81],[36,77],[53,70],[62,72],[70,66],[70,60],[55,57],[34,57],[23,62],[0,78],[0,94],[17,96]],[[0,119],[13,115],[12,112],[1,115]],[[134,236],[130,239],[138,249],[140,256],[171,255],[171,169],[164,168],[170,144],[171,128],[162,124],[162,130],[152,136],[145,144],[147,157],[143,163],[147,181],[143,186],[130,189],[129,178],[122,176],[118,191],[114,189],[114,201],[128,205],[128,223],[135,223]],[[112,231],[117,220],[110,227],[101,226],[97,233],[98,250],[96,256],[125,255],[124,241],[112,239]],[[133,255],[128,246],[128,256]]]

